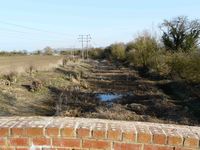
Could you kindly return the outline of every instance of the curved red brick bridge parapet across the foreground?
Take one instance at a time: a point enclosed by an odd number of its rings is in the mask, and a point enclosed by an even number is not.
[[[81,118],[2,117],[0,150],[197,150],[200,127]]]

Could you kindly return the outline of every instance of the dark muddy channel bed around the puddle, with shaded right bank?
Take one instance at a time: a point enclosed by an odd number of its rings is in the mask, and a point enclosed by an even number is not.
[[[69,103],[62,106],[60,115],[199,125],[198,85],[185,85],[108,61],[89,64],[91,68],[83,76],[88,88],[72,94],[78,98],[66,94]],[[98,93],[121,96],[102,102]]]

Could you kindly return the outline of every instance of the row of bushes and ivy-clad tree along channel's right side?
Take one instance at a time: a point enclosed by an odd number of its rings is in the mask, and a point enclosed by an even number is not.
[[[91,58],[138,67],[146,72],[200,83],[200,21],[179,16],[164,20],[160,38],[144,32],[133,41],[90,50]]]

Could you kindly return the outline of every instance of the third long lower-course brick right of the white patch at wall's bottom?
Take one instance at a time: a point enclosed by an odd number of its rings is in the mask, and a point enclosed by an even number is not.
[[[141,144],[114,143],[114,150],[142,150]]]

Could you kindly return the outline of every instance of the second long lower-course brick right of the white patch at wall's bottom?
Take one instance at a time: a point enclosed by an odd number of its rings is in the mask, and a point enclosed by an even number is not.
[[[111,149],[111,143],[108,141],[84,140],[83,148]]]

